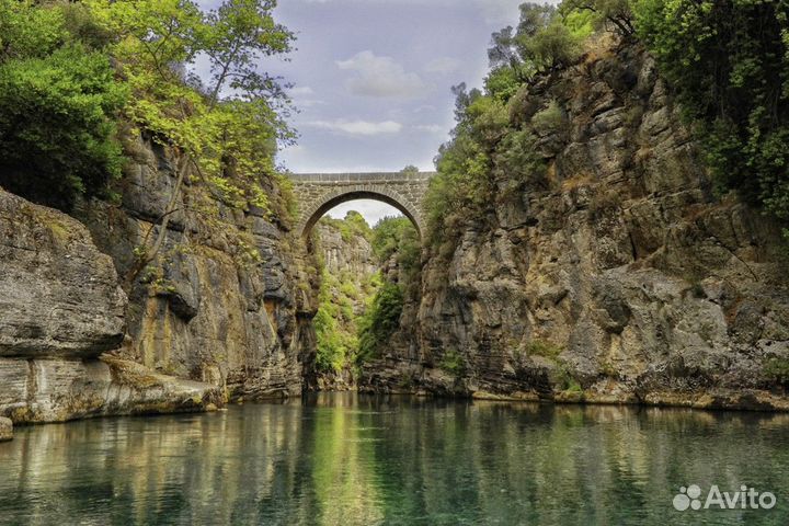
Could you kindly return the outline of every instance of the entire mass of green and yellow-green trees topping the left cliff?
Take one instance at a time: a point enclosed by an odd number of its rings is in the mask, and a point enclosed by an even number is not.
[[[188,173],[227,205],[268,209],[277,142],[294,136],[277,80],[256,66],[293,41],[274,7],[0,0],[0,184],[61,208],[80,193],[107,194],[124,162],[124,121],[188,157],[175,192]],[[277,211],[289,208],[286,195]]]

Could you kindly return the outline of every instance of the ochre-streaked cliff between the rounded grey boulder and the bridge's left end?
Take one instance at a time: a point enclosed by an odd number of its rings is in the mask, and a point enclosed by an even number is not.
[[[126,150],[122,205],[91,202],[77,213],[122,281],[133,276],[118,354],[231,399],[300,393],[317,274],[301,244],[273,214],[226,207],[204,185],[175,192],[179,157],[168,148],[134,137]],[[134,275],[135,248],[159,236],[169,210],[161,250]]]

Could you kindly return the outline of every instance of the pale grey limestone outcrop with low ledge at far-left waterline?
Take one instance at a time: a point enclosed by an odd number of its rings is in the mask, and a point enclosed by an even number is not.
[[[209,385],[102,356],[121,345],[128,304],[79,221],[0,190],[0,416],[52,422],[220,403]]]

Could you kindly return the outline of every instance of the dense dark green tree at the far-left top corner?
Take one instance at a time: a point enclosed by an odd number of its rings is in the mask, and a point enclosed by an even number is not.
[[[121,174],[115,116],[127,90],[69,33],[65,11],[0,1],[0,184],[68,209]]]

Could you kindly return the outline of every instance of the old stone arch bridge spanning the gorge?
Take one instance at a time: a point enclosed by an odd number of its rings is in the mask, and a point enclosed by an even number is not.
[[[308,236],[327,211],[353,199],[376,199],[400,210],[424,231],[424,196],[435,172],[290,174],[299,206],[296,231]]]

